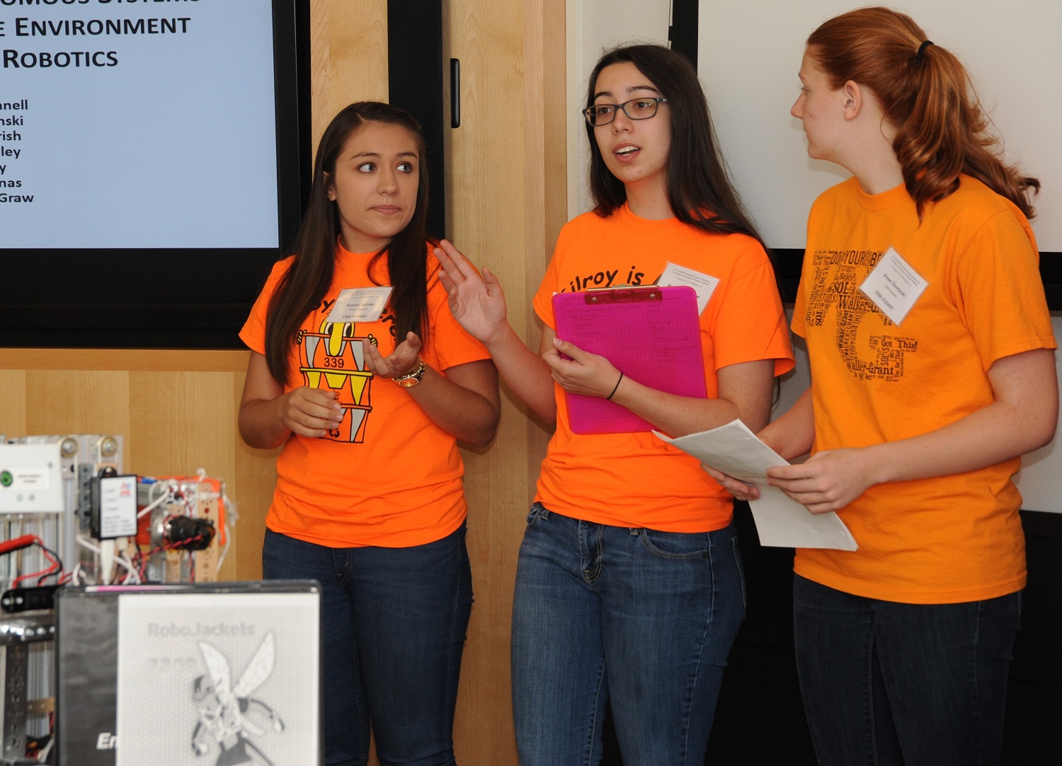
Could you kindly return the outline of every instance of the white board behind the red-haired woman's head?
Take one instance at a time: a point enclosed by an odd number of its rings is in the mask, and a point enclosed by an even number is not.
[[[892,3],[884,3],[892,5]],[[803,248],[807,211],[847,173],[808,159],[796,99],[804,41],[854,0],[701,0],[698,70],[723,154],[771,247]],[[1038,176],[1040,249],[1062,251],[1060,0],[905,0],[935,43],[959,56],[1006,139],[1006,155]],[[913,51],[912,51],[913,53]]]

